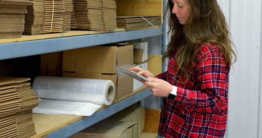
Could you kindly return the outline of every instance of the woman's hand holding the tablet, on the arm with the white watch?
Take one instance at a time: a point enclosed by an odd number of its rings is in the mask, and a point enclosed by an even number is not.
[[[141,80],[141,82],[145,84],[155,96],[166,97],[167,94],[173,90],[173,85],[165,80],[151,77],[148,77],[148,79],[152,82],[148,82],[145,80]]]

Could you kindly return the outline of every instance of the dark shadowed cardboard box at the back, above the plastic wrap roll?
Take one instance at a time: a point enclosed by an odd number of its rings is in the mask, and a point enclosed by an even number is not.
[[[41,54],[41,75],[62,77],[63,51]]]

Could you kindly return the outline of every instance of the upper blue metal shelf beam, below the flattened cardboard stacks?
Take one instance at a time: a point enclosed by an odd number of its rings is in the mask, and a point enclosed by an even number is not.
[[[128,41],[163,34],[163,26],[151,29],[59,37],[0,44],[0,60],[75,48]]]

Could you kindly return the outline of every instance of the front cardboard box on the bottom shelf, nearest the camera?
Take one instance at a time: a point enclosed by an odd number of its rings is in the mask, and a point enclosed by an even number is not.
[[[139,138],[137,122],[102,120],[69,138]]]

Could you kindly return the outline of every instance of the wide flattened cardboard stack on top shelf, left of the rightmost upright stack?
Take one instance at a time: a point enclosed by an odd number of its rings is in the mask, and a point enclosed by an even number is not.
[[[77,29],[104,30],[102,0],[75,0]]]

